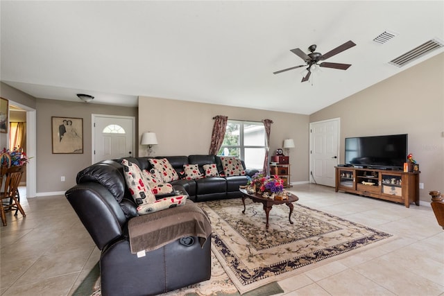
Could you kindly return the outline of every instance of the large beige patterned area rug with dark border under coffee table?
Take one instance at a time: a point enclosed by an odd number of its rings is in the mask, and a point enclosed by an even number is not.
[[[212,251],[241,294],[382,243],[391,234],[310,209],[273,206],[268,230],[262,204],[241,199],[198,203],[210,216]],[[329,260],[330,259],[330,260]]]

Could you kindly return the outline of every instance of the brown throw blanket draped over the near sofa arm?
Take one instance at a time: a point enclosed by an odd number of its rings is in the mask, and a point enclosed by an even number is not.
[[[203,247],[212,232],[207,213],[191,200],[180,207],[137,216],[128,222],[131,252],[152,251],[184,236],[197,236]]]

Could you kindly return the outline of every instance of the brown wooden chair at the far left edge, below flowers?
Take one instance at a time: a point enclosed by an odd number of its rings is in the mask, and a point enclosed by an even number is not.
[[[7,154],[0,155],[0,211],[1,222],[3,226],[6,223],[6,211],[17,209],[26,217],[25,211],[19,202],[19,184],[25,171],[25,166],[11,166],[10,156]],[[3,202],[3,200],[7,200]],[[16,214],[17,215],[17,211]]]

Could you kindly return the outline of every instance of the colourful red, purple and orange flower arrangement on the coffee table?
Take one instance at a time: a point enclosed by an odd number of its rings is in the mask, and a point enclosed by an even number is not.
[[[274,198],[275,195],[287,195],[284,191],[284,180],[277,175],[270,177],[264,173],[255,173],[250,180],[248,180],[248,192],[262,193],[262,196]]]

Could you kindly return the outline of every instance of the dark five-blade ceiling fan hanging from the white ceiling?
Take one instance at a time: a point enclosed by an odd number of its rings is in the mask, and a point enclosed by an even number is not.
[[[347,70],[351,64],[339,64],[336,62],[321,62],[321,64],[318,64],[319,61],[327,60],[327,58],[331,58],[333,55],[337,55],[338,53],[341,53],[345,51],[346,49],[350,49],[350,47],[355,46],[355,42],[352,42],[352,40],[345,42],[344,44],[336,47],[336,49],[332,49],[331,51],[321,54],[321,53],[315,53],[316,51],[316,44],[313,44],[309,46],[308,50],[310,53],[304,53],[300,49],[291,49],[290,51],[294,53],[295,55],[298,55],[299,58],[305,61],[306,64],[301,64],[300,66],[291,67],[287,69],[283,69],[280,71],[275,71],[273,74],[282,73],[285,71],[293,70],[300,67],[307,67],[308,73],[307,75],[302,78],[301,82],[307,81],[310,78],[312,66],[319,66],[319,67],[325,67],[325,68],[332,68],[332,69],[340,69],[340,70]]]

